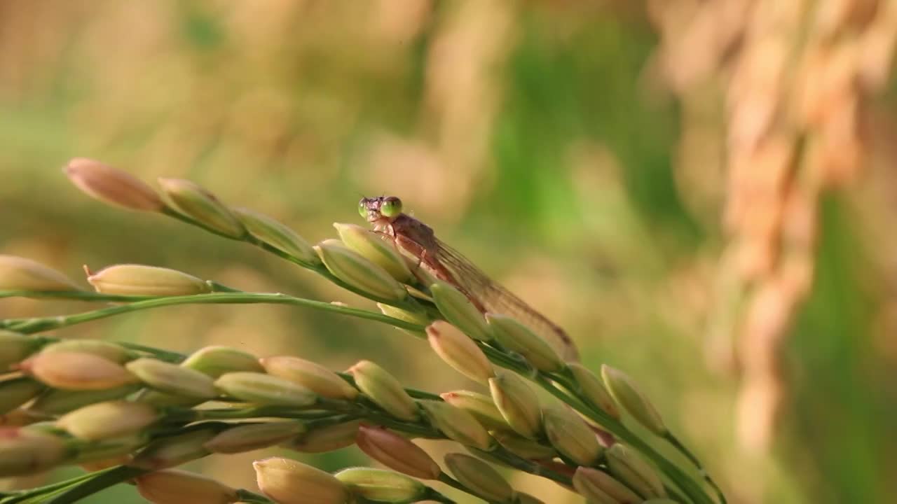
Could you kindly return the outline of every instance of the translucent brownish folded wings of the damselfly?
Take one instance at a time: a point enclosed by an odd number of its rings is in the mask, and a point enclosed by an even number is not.
[[[448,247],[440,239],[436,239],[436,243],[439,246],[437,259],[440,265],[445,266],[455,277],[457,286],[466,291],[468,296],[473,296],[479,301],[486,311],[517,318],[551,343],[566,360],[579,360],[576,346],[560,326],[530,307],[513,292],[493,281],[460,252]]]

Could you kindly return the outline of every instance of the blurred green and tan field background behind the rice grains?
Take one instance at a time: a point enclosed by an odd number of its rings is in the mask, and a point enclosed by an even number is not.
[[[361,195],[400,196],[588,365],[637,378],[731,502],[893,501],[895,36],[891,0],[7,0],[0,253],[367,306],[99,204],[60,168],[190,178],[313,241],[361,223]],[[3,300],[0,317],[86,308]],[[401,332],[296,308],[165,308],[61,334],[366,358],[415,387],[475,387]],[[254,488],[262,455],[191,468]],[[142,500],[123,486],[86,501]]]

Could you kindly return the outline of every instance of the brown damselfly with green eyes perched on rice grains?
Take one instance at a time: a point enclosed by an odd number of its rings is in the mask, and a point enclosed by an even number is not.
[[[358,212],[373,224],[374,230],[393,239],[397,247],[414,256],[434,276],[464,292],[480,311],[517,317],[552,343],[565,359],[578,359],[576,346],[560,326],[493,281],[457,250],[437,239],[429,226],[402,213],[402,200],[396,196],[361,198]]]

